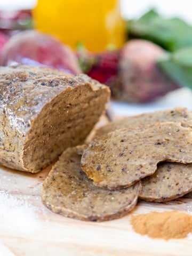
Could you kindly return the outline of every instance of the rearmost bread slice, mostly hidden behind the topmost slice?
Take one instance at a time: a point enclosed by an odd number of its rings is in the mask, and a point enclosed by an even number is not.
[[[132,128],[159,122],[176,122],[181,123],[183,127],[192,127],[192,112],[187,110],[187,108],[178,107],[175,109],[155,111],[154,113],[127,116],[100,127],[95,132],[94,138],[117,129]]]

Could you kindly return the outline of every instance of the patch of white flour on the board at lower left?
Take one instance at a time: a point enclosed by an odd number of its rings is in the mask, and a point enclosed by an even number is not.
[[[17,233],[31,234],[39,229],[36,209],[24,199],[0,191],[0,221]]]

